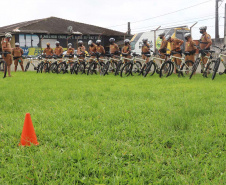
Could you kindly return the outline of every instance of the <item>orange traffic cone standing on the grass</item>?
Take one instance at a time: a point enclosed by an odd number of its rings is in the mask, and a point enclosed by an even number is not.
[[[32,144],[38,145],[37,137],[35,134],[35,129],[33,127],[32,121],[31,121],[31,115],[30,113],[27,113],[24,120],[24,127],[21,134],[21,140],[20,144],[22,146],[30,146]]]

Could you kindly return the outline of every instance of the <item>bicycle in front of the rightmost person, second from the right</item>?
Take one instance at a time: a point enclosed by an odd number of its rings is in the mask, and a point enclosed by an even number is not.
[[[212,51],[212,50],[199,50],[199,56],[198,58],[195,60],[195,63],[192,67],[192,72],[191,72],[191,75],[190,75],[190,79],[192,78],[192,76],[194,75],[194,73],[196,72],[197,68],[198,68],[198,65],[199,63],[201,62],[202,65],[203,64],[203,61],[202,61],[202,57],[205,57],[207,58],[207,62],[206,64],[204,65],[204,70],[203,70],[203,77],[206,77],[207,78],[207,75],[208,73],[210,73],[210,71],[212,70],[212,65],[213,63],[215,63],[213,59],[213,56],[212,54],[214,53],[215,51]],[[207,53],[210,53],[210,56],[207,56]]]

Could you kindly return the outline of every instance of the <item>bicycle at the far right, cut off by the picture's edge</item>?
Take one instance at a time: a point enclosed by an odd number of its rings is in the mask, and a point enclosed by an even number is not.
[[[215,65],[214,65],[214,67],[213,67],[212,80],[214,80],[215,77],[216,77],[216,74],[217,74],[217,72],[218,72],[218,70],[219,70],[219,67],[220,67],[220,62],[222,62],[223,66],[224,66],[224,72],[219,72],[218,74],[219,74],[219,75],[226,74],[226,63],[224,62],[224,60],[223,60],[223,58],[222,58],[222,57],[226,57],[225,54],[222,54],[222,52],[226,50],[226,49],[225,49],[225,45],[223,46],[223,49],[221,49],[221,48],[218,47],[218,46],[213,46],[213,47],[219,49],[219,50],[220,50],[220,53],[219,53],[218,58],[216,59]]]

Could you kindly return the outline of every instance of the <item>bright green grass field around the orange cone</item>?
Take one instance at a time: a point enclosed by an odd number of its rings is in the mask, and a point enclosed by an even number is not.
[[[0,184],[226,183],[226,76],[12,75]],[[18,146],[27,112],[39,146]]]

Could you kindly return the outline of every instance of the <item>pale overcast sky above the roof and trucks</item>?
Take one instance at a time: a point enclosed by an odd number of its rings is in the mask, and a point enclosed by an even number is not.
[[[77,22],[127,31],[127,22],[131,22],[132,33],[187,25],[193,28],[193,38],[199,39],[199,27],[208,26],[208,33],[215,37],[215,1],[216,0],[2,0],[0,26],[22,21],[46,18],[50,16]],[[225,2],[219,8],[220,37],[224,35]],[[202,3],[202,4],[200,4]],[[200,4],[200,5],[197,5]],[[197,5],[195,7],[191,7]],[[4,8],[2,8],[4,7]],[[187,8],[191,7],[191,8]],[[166,16],[159,15],[171,13]],[[146,21],[142,21],[148,19]],[[206,19],[206,20],[204,20]],[[121,26],[116,26],[121,25]],[[76,30],[75,30],[76,31]]]

